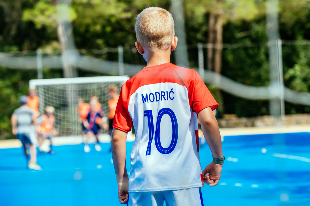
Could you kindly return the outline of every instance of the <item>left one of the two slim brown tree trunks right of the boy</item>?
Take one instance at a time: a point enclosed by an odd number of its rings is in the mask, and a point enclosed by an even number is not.
[[[208,70],[213,70],[214,23],[215,23],[215,14],[211,12],[209,15],[209,23],[208,23],[208,46],[207,46]]]

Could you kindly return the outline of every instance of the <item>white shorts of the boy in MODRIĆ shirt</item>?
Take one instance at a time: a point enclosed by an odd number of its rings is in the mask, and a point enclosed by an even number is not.
[[[130,192],[129,206],[203,206],[200,187],[184,190]]]

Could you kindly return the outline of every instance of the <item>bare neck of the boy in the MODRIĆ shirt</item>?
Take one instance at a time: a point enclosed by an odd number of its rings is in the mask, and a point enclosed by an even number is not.
[[[170,62],[170,53],[170,48],[157,52],[145,52],[144,55],[148,63],[146,66],[150,67]]]

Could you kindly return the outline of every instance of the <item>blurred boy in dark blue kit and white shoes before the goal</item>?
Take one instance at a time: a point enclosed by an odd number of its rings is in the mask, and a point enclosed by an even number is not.
[[[86,120],[84,121],[84,127],[86,128],[87,139],[91,137],[92,134],[96,136],[97,142],[95,143],[95,150],[98,152],[101,151],[101,147],[99,145],[99,135],[100,135],[100,125],[101,125],[101,115],[98,113],[96,105],[97,101],[92,99],[89,104],[91,105],[91,110],[88,113]],[[91,148],[89,147],[87,141],[84,146],[85,152],[90,152]]]

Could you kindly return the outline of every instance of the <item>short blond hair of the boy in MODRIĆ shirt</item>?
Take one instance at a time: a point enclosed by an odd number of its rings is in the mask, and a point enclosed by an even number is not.
[[[135,23],[137,41],[150,52],[170,48],[175,36],[174,21],[169,11],[148,7],[141,11]]]

